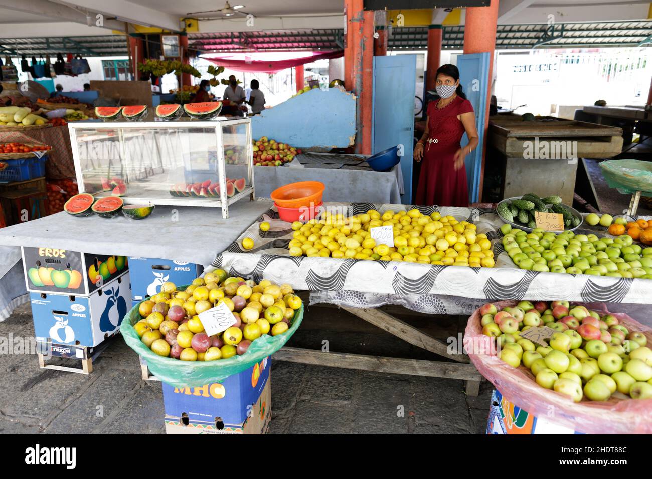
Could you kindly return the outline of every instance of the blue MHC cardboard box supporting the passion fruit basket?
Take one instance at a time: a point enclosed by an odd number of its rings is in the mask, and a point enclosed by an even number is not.
[[[162,383],[166,430],[169,423],[193,434],[247,433],[248,429],[261,433],[271,410],[271,396],[265,396],[269,370],[271,358],[267,357],[222,383],[200,388],[175,388]]]

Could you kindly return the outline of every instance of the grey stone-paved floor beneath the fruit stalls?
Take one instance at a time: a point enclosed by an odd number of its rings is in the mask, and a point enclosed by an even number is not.
[[[10,333],[33,336],[29,304],[0,323],[0,338]],[[331,351],[436,358],[346,312],[314,306],[288,345],[320,349],[323,339]],[[122,338],[111,341],[93,369],[88,376],[42,370],[36,356],[0,355],[0,433],[164,433],[161,385],[140,378],[138,356]],[[271,378],[273,434],[484,433],[492,390],[484,382],[471,398],[454,379],[281,361],[273,362]]]

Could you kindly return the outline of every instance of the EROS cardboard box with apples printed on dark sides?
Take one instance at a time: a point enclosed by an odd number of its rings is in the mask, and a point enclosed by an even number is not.
[[[25,285],[35,293],[87,296],[129,270],[126,256],[32,246],[22,252]]]

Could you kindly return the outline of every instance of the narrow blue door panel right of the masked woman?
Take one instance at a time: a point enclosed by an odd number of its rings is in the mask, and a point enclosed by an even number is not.
[[[466,179],[469,186],[469,203],[480,201],[480,181],[482,175],[482,148],[484,146],[484,119],[486,118],[489,60],[490,53],[468,53],[457,57],[457,67],[460,70],[460,83],[475,111],[475,124],[478,128],[480,142],[471,154],[466,156]],[[462,146],[469,139],[464,134]]]

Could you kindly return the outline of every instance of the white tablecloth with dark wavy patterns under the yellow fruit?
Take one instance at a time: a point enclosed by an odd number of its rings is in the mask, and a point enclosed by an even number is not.
[[[499,231],[503,222],[494,209],[372,203],[327,203],[326,206],[347,215],[370,209],[382,214],[387,210],[418,208],[424,214],[439,211],[443,216],[473,222],[479,233],[485,233],[492,241],[496,267],[292,257],[288,254],[288,244],[293,231],[288,223],[278,219],[275,209],[268,210],[237,241],[218,254],[212,266],[224,268],[236,276],[255,280],[269,278],[276,283],[289,283],[295,289],[309,289],[313,302],[347,306],[401,304],[424,313],[463,314],[472,312],[486,300],[522,298],[652,303],[652,280],[518,269],[503,249]],[[269,231],[260,231],[259,223],[263,221],[271,224]],[[600,231],[582,229],[576,233],[599,235]],[[241,247],[245,237],[254,239],[252,250],[245,251]]]

